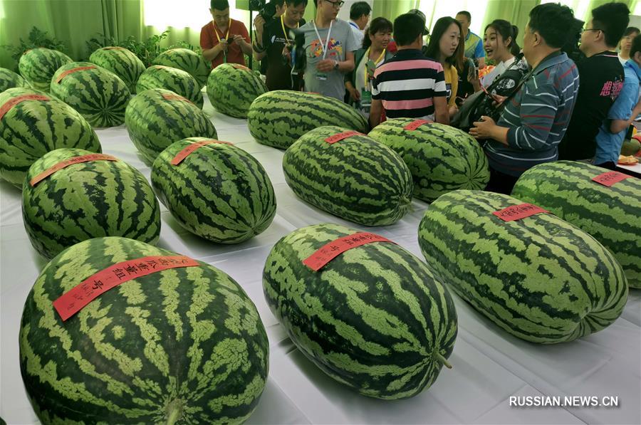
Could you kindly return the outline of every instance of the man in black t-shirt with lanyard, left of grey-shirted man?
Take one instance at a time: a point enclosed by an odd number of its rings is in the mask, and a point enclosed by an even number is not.
[[[296,90],[292,87],[291,66],[283,61],[283,48],[294,43],[290,30],[305,23],[307,1],[285,0],[285,13],[264,25],[256,19],[254,58],[267,63],[265,75],[269,90]]]

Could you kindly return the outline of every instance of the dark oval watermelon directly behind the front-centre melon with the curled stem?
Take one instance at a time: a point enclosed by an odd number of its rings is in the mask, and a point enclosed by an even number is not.
[[[260,234],[276,215],[276,196],[263,166],[243,149],[204,145],[172,165],[191,137],[167,147],[154,161],[151,182],[187,230],[209,241],[239,243]]]

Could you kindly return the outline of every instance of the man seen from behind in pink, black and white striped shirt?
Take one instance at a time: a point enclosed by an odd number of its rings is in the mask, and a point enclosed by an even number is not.
[[[423,20],[416,14],[395,19],[398,52],[374,72],[372,128],[380,123],[383,110],[388,118],[423,118],[449,124],[443,67],[421,53],[424,28]]]

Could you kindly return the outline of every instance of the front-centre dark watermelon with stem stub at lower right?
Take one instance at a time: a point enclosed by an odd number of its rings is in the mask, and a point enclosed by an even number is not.
[[[296,347],[330,377],[369,397],[415,396],[449,366],[452,298],[422,261],[390,242],[352,248],[318,272],[303,264],[355,233],[316,224],[282,238],[265,263],[265,298]]]

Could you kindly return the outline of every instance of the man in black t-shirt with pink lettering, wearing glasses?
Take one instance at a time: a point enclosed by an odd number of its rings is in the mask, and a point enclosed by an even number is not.
[[[592,159],[596,135],[623,85],[623,67],[615,48],[630,21],[622,3],[608,3],[592,11],[581,34],[586,58],[577,65],[580,85],[566,135],[558,145],[558,159]],[[568,117],[569,118],[569,117]]]

